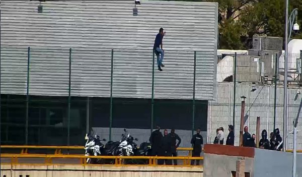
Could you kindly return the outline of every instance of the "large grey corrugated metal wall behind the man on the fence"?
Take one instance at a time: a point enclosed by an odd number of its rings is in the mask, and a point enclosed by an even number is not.
[[[24,94],[26,72],[11,70],[7,52],[22,58],[31,47],[30,94],[67,95],[72,48],[71,95],[151,97],[153,43],[160,27],[164,72],[155,73],[155,98],[192,98],[196,54],[196,99],[213,99],[216,80],[217,4],[141,1],[3,1],[1,7],[1,93]],[[6,47],[6,48],[3,48]],[[20,59],[19,59],[20,60]],[[23,61],[24,60],[24,61]],[[17,68],[26,65],[16,63]],[[25,80],[8,82],[17,76]],[[3,79],[4,78],[4,79]],[[15,85],[18,85],[16,87]]]

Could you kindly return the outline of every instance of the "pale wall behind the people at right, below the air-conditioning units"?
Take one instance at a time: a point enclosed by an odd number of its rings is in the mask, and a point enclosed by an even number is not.
[[[274,86],[259,86],[251,92],[255,85],[237,84],[236,88],[236,117],[235,117],[235,145],[239,145],[239,128],[241,116],[241,96],[246,96],[245,113],[249,118],[245,126],[249,127],[250,134],[256,134],[256,117],[260,116],[260,130],[266,129],[268,134],[273,131],[274,117]],[[216,129],[224,128],[225,137],[228,136],[228,125],[233,124],[233,83],[217,83],[217,99],[208,103],[207,142],[213,142]],[[302,95],[297,94],[296,88],[288,89],[288,125],[287,130],[292,131],[293,119],[297,116]],[[277,87],[276,99],[276,128],[283,130],[283,88]],[[300,113],[299,119],[302,119]],[[302,130],[298,124],[297,130]],[[302,135],[297,134],[297,148],[302,149]],[[268,137],[269,138],[269,137]],[[288,149],[292,148],[292,136],[288,138]]]

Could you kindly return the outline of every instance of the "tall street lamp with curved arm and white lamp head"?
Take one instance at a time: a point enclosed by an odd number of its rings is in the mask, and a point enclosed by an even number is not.
[[[288,18],[288,0],[285,1],[285,53],[284,53],[284,83],[283,83],[283,141],[284,147],[283,151],[286,151],[286,132],[287,132],[287,51],[288,51],[288,40],[291,36],[291,31],[294,30],[295,33],[299,30],[299,25],[297,23],[293,24],[297,20],[297,9],[292,10]],[[289,26],[289,31],[288,31]]]

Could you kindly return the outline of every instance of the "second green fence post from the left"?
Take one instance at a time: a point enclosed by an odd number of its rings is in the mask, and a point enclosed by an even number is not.
[[[71,48],[69,48],[69,83],[68,83],[68,109],[67,109],[67,146],[70,145],[70,102],[71,102]]]

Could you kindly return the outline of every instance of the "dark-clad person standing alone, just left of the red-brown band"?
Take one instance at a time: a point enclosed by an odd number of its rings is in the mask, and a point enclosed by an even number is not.
[[[196,130],[196,134],[193,135],[191,139],[191,144],[193,146],[192,157],[200,157],[202,150],[201,145],[203,144],[202,136],[200,135],[200,128]],[[195,160],[191,160],[191,165],[194,165]],[[199,165],[199,160],[196,160],[196,165]]]

